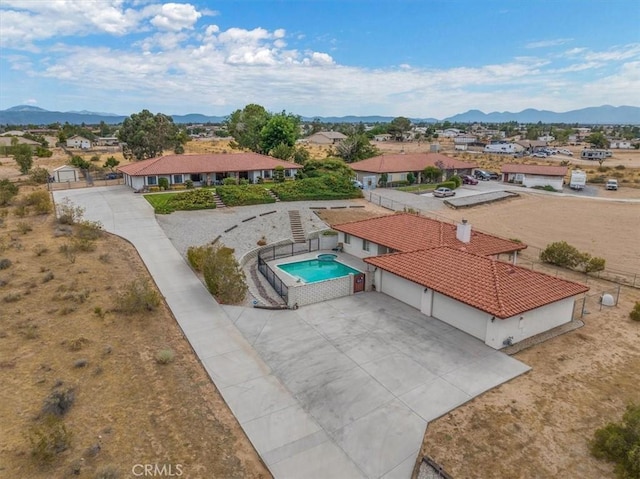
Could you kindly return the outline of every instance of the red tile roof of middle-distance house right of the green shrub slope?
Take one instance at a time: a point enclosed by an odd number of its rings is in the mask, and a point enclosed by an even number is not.
[[[368,173],[403,173],[405,171],[422,171],[427,166],[436,166],[438,162],[442,162],[443,168],[446,170],[462,170],[476,167],[473,163],[460,161],[440,153],[381,155],[356,161],[349,166],[354,171]]]

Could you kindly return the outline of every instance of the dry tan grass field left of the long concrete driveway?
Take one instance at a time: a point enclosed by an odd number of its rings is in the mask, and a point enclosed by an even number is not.
[[[129,477],[134,464],[171,463],[182,464],[185,477],[269,477],[164,304],[149,314],[114,311],[120,285],[148,278],[133,247],[104,235],[71,263],[58,253],[69,238],[54,235],[52,215],[16,218],[8,209],[0,258],[12,264],[0,271],[0,297],[17,299],[0,302],[0,475],[79,470],[93,478],[115,465]],[[16,234],[17,222],[32,231]],[[159,365],[156,354],[167,349],[174,359]],[[43,467],[28,431],[60,389],[74,391],[62,418],[71,442]]]

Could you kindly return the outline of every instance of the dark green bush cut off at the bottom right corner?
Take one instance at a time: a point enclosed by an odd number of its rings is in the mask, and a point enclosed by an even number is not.
[[[640,477],[640,404],[629,404],[621,422],[596,430],[589,448],[594,457],[615,463],[619,478]]]

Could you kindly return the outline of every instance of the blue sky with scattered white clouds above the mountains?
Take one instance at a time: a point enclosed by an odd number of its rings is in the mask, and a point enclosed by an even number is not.
[[[0,109],[640,106],[637,0],[0,0]]]

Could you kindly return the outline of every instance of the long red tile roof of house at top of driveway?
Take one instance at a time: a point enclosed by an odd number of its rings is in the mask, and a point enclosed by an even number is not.
[[[228,173],[233,171],[272,170],[282,165],[288,169],[302,168],[289,161],[258,153],[167,155],[137,161],[118,167],[130,176],[173,175],[180,173]]]

